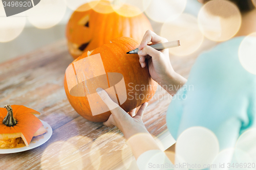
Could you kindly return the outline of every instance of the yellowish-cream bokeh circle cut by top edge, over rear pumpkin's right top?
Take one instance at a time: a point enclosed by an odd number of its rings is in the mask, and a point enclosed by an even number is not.
[[[113,1],[113,9],[116,13],[125,17],[133,17],[141,14],[150,5],[152,0],[119,0]]]

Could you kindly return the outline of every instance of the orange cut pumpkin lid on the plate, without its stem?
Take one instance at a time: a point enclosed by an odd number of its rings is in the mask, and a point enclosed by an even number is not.
[[[47,132],[41,121],[34,115],[39,112],[20,105],[11,105],[13,117],[17,120],[17,124],[8,127],[3,124],[4,118],[8,111],[6,108],[0,108],[0,139],[8,140],[12,138],[22,137],[28,147],[33,136],[38,136]]]

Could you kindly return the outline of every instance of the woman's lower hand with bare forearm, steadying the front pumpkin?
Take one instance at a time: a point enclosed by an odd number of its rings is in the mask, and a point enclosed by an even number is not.
[[[148,133],[142,121],[142,116],[147,103],[141,105],[136,115],[136,108],[130,111],[128,114],[118,104],[111,100],[110,96],[105,90],[102,88],[97,88],[97,93],[106,106],[109,107],[112,113],[110,118],[103,124],[106,126],[114,125],[123,132],[123,136],[130,145],[136,160],[142,153],[146,151],[160,150],[156,141],[151,134]]]

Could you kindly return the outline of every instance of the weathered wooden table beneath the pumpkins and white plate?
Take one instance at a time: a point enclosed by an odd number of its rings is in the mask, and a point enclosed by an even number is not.
[[[172,57],[171,61],[177,72],[188,77],[196,56]],[[69,104],[63,78],[72,60],[66,41],[61,40],[0,64],[0,107],[33,108],[53,129],[52,137],[38,148],[0,155],[1,169],[113,169],[117,165],[129,169],[124,160],[132,153],[122,133],[82,118]],[[158,100],[159,94],[165,100]],[[159,136],[166,130],[165,113],[171,97],[164,90],[155,96],[143,121],[153,136]]]

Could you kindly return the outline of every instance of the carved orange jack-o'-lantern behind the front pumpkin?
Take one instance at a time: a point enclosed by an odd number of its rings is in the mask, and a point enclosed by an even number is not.
[[[122,12],[132,13],[131,8],[133,7],[127,5]],[[112,9],[108,1],[100,1],[93,9],[90,4],[84,4],[77,10],[72,14],[66,28],[69,52],[74,59],[114,38],[126,36],[140,42],[146,30],[153,30],[144,14],[121,16]],[[107,12],[104,13],[104,10]]]

